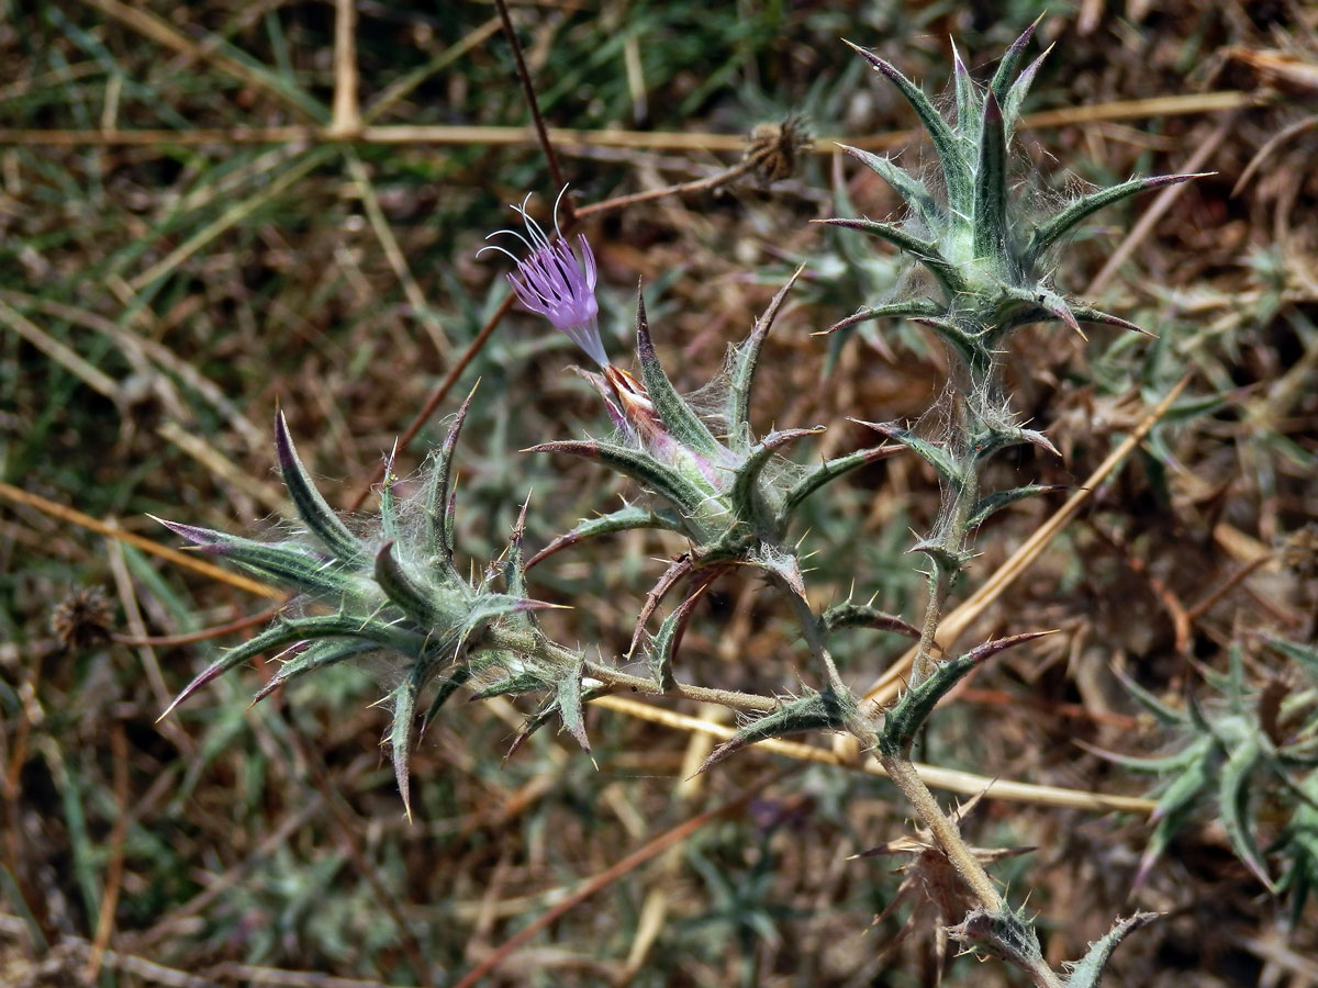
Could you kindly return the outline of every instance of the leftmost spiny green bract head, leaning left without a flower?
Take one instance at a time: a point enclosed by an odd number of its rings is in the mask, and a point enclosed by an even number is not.
[[[256,541],[162,520],[198,551],[236,563],[298,595],[297,610],[286,611],[266,631],[228,651],[196,676],[165,714],[262,652],[282,649],[283,664],[253,703],[318,669],[368,655],[384,656],[397,681],[389,696],[389,743],[409,815],[411,725],[416,701],[431,685],[435,696],[422,730],[463,685],[485,684],[477,689],[480,697],[548,690],[554,697],[551,707],[564,727],[589,750],[581,726],[583,659],[548,642],[534,614],[547,605],[526,597],[525,508],[497,568],[500,573],[492,566],[473,584],[455,565],[452,461],[471,400],[468,395],[443,447],[432,456],[416,503],[395,501],[395,478],[386,472],[380,515],[369,535],[349,530],[316,490],[282,412],[275,419],[275,447],[302,534],[281,541]],[[503,584],[502,591],[493,589],[496,577]]]

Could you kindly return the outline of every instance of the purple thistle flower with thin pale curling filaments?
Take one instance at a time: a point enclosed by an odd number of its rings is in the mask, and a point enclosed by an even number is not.
[[[505,250],[497,244],[481,248],[481,252],[502,250],[511,257],[517,262],[517,274],[509,274],[507,281],[518,300],[532,312],[539,312],[554,323],[555,329],[567,333],[577,346],[587,352],[590,360],[605,368],[609,365],[609,357],[600,341],[600,306],[594,300],[594,254],[590,253],[590,245],[580,233],[576,238],[577,250],[573,253],[563,231],[559,229],[559,202],[563,200],[567,191],[567,186],[564,186],[554,202],[556,238],[552,242],[540,224],[527,215],[526,203],[531,199],[530,192],[527,192],[521,206],[511,207],[522,216],[527,236],[523,237],[513,229],[500,229],[489,234],[489,237],[496,237],[500,233],[510,233],[526,245],[530,252],[527,257],[518,261],[513,252]]]

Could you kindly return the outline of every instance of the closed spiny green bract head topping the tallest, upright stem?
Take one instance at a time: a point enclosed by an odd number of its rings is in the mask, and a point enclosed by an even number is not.
[[[1057,294],[1052,286],[1056,248],[1081,221],[1104,206],[1194,178],[1131,179],[1081,196],[1041,221],[1028,220],[1025,209],[1011,203],[1008,146],[1025,94],[1048,54],[1045,51],[1016,75],[1032,36],[1033,28],[1029,28],[1016,40],[987,87],[975,83],[960,55],[956,57],[954,124],[945,120],[924,91],[895,66],[851,45],[916,111],[933,142],[940,187],[888,158],[844,148],[892,186],[909,215],[902,223],[867,219],[825,223],[863,231],[892,244],[923,265],[938,290],[925,298],[861,308],[838,325],[899,316],[917,320],[961,356],[975,382],[988,375],[1006,336],[1027,323],[1061,321],[1077,332],[1082,321],[1136,329],[1123,319],[1068,302]]]

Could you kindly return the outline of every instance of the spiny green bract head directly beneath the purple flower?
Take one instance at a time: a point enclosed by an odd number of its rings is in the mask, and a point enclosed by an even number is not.
[[[645,304],[638,300],[641,381],[612,365],[604,368],[602,375],[579,371],[604,398],[621,433],[619,440],[558,441],[532,447],[532,452],[572,453],[600,460],[639,482],[664,505],[659,508],[627,505],[583,522],[536,553],[529,565],[583,539],[631,528],[662,528],[679,532],[691,541],[691,552],[673,561],[642,609],[633,649],[663,597],[689,574],[696,574],[692,593],[699,593],[728,566],[753,565],[767,572],[788,593],[803,597],[796,549],[788,541],[792,514],[807,497],[830,481],[900,449],[896,445],[878,447],[811,468],[797,468],[783,460],[778,451],[797,439],[817,435],[821,427],[774,431],[759,440],[753,436],[749,416],[755,366],[792,281],[778,292],[750,337],[733,354],[726,398],[720,410],[726,435],[716,436],[672,386],[655,354]],[[680,638],[680,630],[671,631]],[[664,681],[663,672],[659,672],[659,680]]]

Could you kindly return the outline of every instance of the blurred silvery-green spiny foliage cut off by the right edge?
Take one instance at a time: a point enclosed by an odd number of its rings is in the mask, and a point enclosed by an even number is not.
[[[1290,642],[1272,644],[1294,659],[1313,685],[1318,685],[1318,652]],[[1318,706],[1314,690],[1294,690],[1285,680],[1276,680],[1263,690],[1251,688],[1238,647],[1231,649],[1224,676],[1202,672],[1218,696],[1209,703],[1199,703],[1190,694],[1184,711],[1124,680],[1126,689],[1140,706],[1181,740],[1177,751],[1153,759],[1099,752],[1136,771],[1162,776],[1155,790],[1153,834],[1135,884],[1144,881],[1195,811],[1205,804],[1214,804],[1236,858],[1269,892],[1288,891],[1293,916],[1298,918],[1318,879],[1318,810],[1314,809],[1318,773],[1313,771],[1318,767]],[[1271,848],[1288,864],[1281,883],[1275,883],[1268,871],[1251,811],[1265,794],[1272,806],[1282,808],[1286,821]]]

